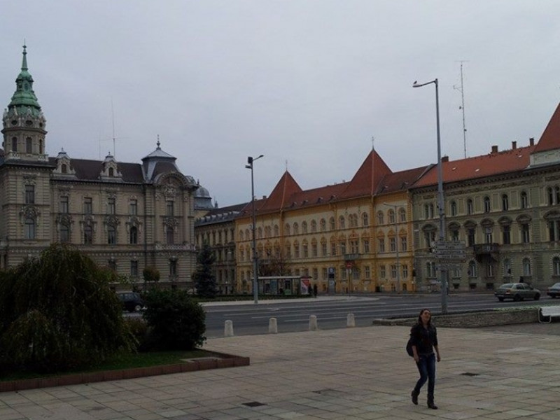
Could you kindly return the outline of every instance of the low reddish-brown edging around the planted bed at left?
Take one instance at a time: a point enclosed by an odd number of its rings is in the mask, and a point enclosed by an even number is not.
[[[22,391],[24,389],[49,388],[52,386],[68,386],[78,384],[92,384],[94,382],[118,381],[141,377],[158,376],[197,370],[223,369],[225,367],[248,366],[248,357],[235,356],[218,351],[208,351],[209,356],[186,360],[185,363],[174,365],[158,365],[148,367],[133,367],[131,369],[102,370],[101,372],[84,372],[64,374],[58,377],[15,379],[0,381],[0,392]]]

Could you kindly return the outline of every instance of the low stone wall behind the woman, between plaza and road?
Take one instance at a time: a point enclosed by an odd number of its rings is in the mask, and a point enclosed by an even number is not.
[[[373,325],[411,326],[417,318],[374,319]],[[463,314],[433,315],[433,323],[438,327],[478,328],[492,325],[510,325],[538,322],[538,308],[492,310],[483,312],[465,312]]]

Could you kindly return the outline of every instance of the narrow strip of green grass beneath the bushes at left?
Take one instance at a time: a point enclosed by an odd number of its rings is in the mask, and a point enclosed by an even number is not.
[[[96,365],[90,368],[71,370],[66,372],[56,372],[50,374],[38,374],[36,372],[1,372],[0,382],[3,381],[14,381],[18,379],[35,379],[35,378],[49,378],[57,377],[66,374],[76,374],[76,373],[90,373],[90,372],[102,372],[104,370],[121,370],[121,369],[132,369],[134,367],[150,367],[150,366],[160,366],[160,365],[174,365],[177,363],[183,363],[183,359],[187,358],[202,358],[213,356],[214,353],[210,353],[204,350],[193,350],[193,351],[151,351],[145,353],[128,353],[116,356],[104,363]]]

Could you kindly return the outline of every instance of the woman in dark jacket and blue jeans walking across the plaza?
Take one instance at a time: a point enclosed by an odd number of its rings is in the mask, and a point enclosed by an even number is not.
[[[428,407],[437,409],[433,402],[433,391],[435,387],[435,360],[440,358],[440,350],[437,348],[437,330],[432,325],[432,313],[430,309],[422,309],[418,316],[418,322],[411,328],[412,353],[420,379],[412,390],[412,402],[418,405],[418,395],[423,384],[428,381]],[[435,354],[434,354],[435,350]]]

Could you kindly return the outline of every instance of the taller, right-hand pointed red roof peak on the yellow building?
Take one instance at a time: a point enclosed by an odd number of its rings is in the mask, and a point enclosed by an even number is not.
[[[377,190],[381,179],[391,174],[391,169],[386,165],[376,151],[371,151],[358,169],[358,172],[349,182],[341,198],[363,197],[372,195]]]

